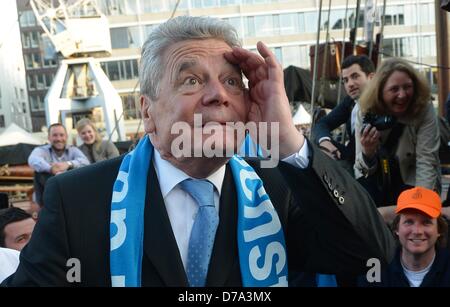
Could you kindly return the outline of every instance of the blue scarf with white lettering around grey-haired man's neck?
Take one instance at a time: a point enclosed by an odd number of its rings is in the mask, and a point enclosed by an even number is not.
[[[113,287],[141,285],[145,179],[152,154],[153,146],[144,137],[125,156],[114,182],[110,224]],[[286,244],[275,208],[250,165],[236,155],[229,163],[238,196],[237,239],[243,285],[287,286]]]

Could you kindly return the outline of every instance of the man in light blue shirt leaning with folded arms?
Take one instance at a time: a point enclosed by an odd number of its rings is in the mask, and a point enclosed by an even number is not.
[[[28,164],[34,169],[34,191],[36,202],[43,206],[44,185],[51,176],[72,168],[89,164],[86,156],[75,146],[67,146],[66,128],[52,124],[48,128],[49,144],[36,147],[28,157]]]

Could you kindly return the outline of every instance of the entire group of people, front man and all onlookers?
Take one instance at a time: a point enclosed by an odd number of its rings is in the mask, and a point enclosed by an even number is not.
[[[88,119],[76,125],[79,148],[63,125],[49,127],[29,157],[36,226],[0,212],[0,246],[21,251],[18,262],[0,249],[14,268],[3,277],[15,271],[2,285],[450,286],[438,122],[420,74],[397,58],[377,70],[346,58],[347,97],[308,140],[281,65],[264,43],[257,51],[215,18],[156,27],[140,61],[146,135],[119,156]],[[276,124],[263,142],[276,165],[233,155],[242,140],[230,122]],[[347,144],[332,134],[342,124]],[[367,278],[370,259],[380,278]]]

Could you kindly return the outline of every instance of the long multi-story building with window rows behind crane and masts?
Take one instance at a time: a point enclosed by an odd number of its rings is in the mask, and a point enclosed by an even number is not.
[[[17,0],[22,44],[27,70],[28,96],[33,129],[45,124],[43,98],[53,79],[57,63],[45,60],[40,48],[41,29],[26,0]],[[139,122],[138,61],[140,47],[149,31],[175,15],[206,15],[222,18],[236,27],[246,48],[255,49],[259,40],[274,51],[283,67],[310,69],[310,48],[316,44],[319,1],[317,0],[96,0],[110,24],[112,55],[99,59],[101,66],[123,101],[127,126]],[[362,5],[365,1],[361,1]],[[377,3],[374,32],[380,30],[383,1]],[[348,5],[347,5],[348,3]],[[323,1],[320,42],[349,41],[354,24],[356,0]],[[174,12],[174,8],[176,11]],[[361,7],[361,11],[364,6]],[[362,15],[361,15],[362,16]],[[360,16],[360,17],[361,17]],[[436,35],[433,0],[387,1],[384,15],[384,56],[404,57],[427,72],[434,82]],[[361,19],[357,40],[364,40]],[[345,29],[344,29],[345,28]],[[345,33],[345,37],[344,37]],[[130,129],[132,130],[132,129]]]

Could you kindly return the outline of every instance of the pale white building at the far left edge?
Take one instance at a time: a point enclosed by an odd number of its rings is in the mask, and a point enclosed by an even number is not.
[[[7,0],[0,10],[0,132],[11,123],[31,131],[15,0]]]

